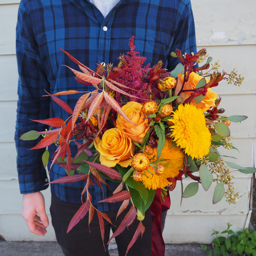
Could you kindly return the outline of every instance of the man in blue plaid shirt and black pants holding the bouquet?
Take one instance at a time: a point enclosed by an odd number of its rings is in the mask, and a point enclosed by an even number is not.
[[[30,119],[68,118],[50,97],[42,97],[46,94],[44,90],[51,94],[71,89],[92,90],[78,84],[73,73],[62,66],[77,69],[58,47],[91,69],[99,61],[116,66],[120,53],[128,52],[128,41],[133,35],[136,51],[147,58],[145,64],[153,66],[162,60],[165,68],[172,70],[178,61],[170,56],[172,51],[178,48],[182,52],[196,52],[190,0],[21,0],[17,21],[19,99],[15,141],[20,192],[24,194],[23,218],[32,233],[44,236],[49,225],[40,192],[47,188],[48,179],[41,163],[44,150],[28,150],[36,142],[22,141],[19,137],[30,130],[47,128]],[[63,96],[61,99],[73,108],[77,97]],[[50,146],[49,151],[52,156],[54,147]],[[49,172],[50,180],[65,175],[64,169],[56,164]],[[114,189],[115,184],[109,184]],[[65,255],[109,255],[108,250],[104,250],[96,216],[90,224],[90,232],[85,217],[66,233],[70,219],[81,205],[83,187],[83,181],[51,184],[50,210],[57,241]],[[103,189],[104,195],[110,195],[109,189]],[[103,196],[98,186],[93,186],[90,193],[93,204],[112,215],[114,220],[118,205],[97,203]],[[151,220],[150,213],[147,215],[143,222],[146,232],[128,255],[150,255]],[[118,221],[114,223],[117,227]],[[127,230],[116,237],[119,255],[125,255],[134,228],[136,226],[129,228],[130,233]],[[106,225],[105,230],[105,241],[108,241],[110,226]]]

